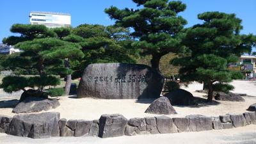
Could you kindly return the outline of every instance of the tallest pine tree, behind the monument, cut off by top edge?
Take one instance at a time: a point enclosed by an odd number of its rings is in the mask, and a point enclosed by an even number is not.
[[[168,0],[132,1],[138,5],[138,9],[119,10],[111,6],[105,12],[116,20],[116,26],[134,30],[131,35],[138,41],[133,42],[132,47],[140,50],[143,55],[152,55],[151,66],[159,72],[162,56],[184,50],[180,42],[182,29],[187,22],[179,13],[186,9],[186,4]]]

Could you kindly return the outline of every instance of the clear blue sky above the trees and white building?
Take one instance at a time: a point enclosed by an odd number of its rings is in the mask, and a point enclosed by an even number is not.
[[[244,29],[241,33],[256,35],[255,0],[183,0],[183,2],[187,4],[187,9],[181,15],[188,20],[187,27],[200,22],[196,19],[198,13],[220,11],[236,13],[237,17],[243,20]],[[31,11],[70,13],[73,27],[84,23],[107,26],[114,23],[104,13],[104,9],[111,5],[118,8],[136,8],[132,0],[1,0],[0,42],[4,37],[13,35],[10,32],[12,24],[28,24],[28,15]]]

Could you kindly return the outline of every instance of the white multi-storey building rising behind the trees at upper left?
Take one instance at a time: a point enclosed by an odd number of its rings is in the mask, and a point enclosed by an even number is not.
[[[30,24],[44,24],[47,28],[71,26],[71,15],[58,12],[30,12]]]

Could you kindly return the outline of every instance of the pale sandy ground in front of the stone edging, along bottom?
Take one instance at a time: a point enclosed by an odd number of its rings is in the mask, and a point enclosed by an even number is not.
[[[212,130],[202,132],[181,132],[175,134],[143,134],[138,136],[120,136],[116,138],[96,137],[56,137],[47,139],[31,139],[10,136],[0,133],[1,144],[255,144],[256,125],[234,129]]]

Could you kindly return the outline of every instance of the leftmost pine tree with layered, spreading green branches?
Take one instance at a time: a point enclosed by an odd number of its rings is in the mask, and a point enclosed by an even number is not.
[[[23,52],[17,57],[8,58],[4,61],[5,65],[10,69],[35,69],[36,76],[4,77],[1,88],[5,92],[24,90],[23,96],[42,97],[45,86],[56,86],[60,84],[58,76],[72,73],[72,70],[64,67],[66,58],[84,56],[80,45],[61,40],[60,33],[55,33],[43,25],[13,24],[11,31],[19,33],[20,36],[4,38],[3,42],[15,44]]]

